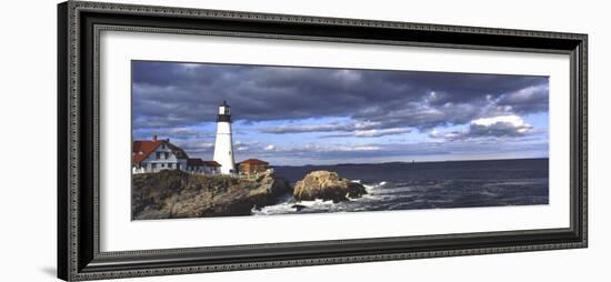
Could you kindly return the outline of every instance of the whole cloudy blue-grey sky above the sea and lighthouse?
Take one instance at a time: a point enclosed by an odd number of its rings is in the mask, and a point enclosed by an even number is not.
[[[547,77],[132,62],[136,140],[158,134],[210,160],[223,100],[237,161],[548,157]]]

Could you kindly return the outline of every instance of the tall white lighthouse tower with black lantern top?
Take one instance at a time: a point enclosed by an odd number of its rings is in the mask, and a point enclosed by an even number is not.
[[[236,160],[233,159],[233,140],[231,138],[231,107],[227,104],[227,101],[223,101],[219,107],[214,161],[221,164],[222,174],[237,173]]]

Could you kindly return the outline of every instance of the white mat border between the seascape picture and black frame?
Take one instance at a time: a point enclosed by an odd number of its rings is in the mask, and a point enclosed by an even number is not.
[[[569,226],[568,56],[119,31],[100,51],[103,252]],[[131,60],[549,75],[550,204],[131,221]]]

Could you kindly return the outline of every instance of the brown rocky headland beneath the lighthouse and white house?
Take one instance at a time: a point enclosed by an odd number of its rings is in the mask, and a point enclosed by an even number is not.
[[[257,179],[161,171],[132,175],[132,219],[249,215],[291,192],[288,181],[267,172]]]

